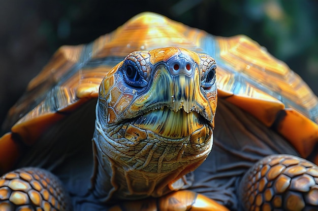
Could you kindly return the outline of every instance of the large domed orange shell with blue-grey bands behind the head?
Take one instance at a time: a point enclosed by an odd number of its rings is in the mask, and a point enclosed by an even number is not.
[[[255,116],[288,140],[302,157],[318,163],[314,150],[318,99],[286,64],[244,35],[214,36],[161,15],[142,13],[90,44],[63,46],[54,54],[8,114],[4,130],[11,132],[0,139],[0,172],[28,162],[21,157],[33,154],[29,160],[35,158],[34,152],[42,147],[39,139],[50,138],[47,130],[61,129],[58,122],[95,104],[101,81],[126,55],[169,46],[212,56],[217,61],[218,98]],[[86,126],[75,128],[80,131]],[[57,161],[49,157],[44,166],[54,168]],[[41,165],[39,159],[35,158],[37,165]]]

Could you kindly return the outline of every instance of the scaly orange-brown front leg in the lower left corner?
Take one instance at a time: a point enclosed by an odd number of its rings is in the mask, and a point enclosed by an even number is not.
[[[26,167],[0,178],[0,210],[71,210],[71,200],[56,176]]]

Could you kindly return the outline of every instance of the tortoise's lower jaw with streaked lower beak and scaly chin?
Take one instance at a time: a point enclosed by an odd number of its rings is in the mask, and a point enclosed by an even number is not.
[[[196,111],[164,106],[113,124],[109,133],[96,130],[102,136],[95,137],[103,153],[126,171],[170,174],[205,159],[213,143],[211,124]]]

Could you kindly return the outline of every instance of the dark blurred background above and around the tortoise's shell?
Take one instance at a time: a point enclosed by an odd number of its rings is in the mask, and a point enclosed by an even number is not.
[[[318,1],[1,0],[0,123],[59,46],[88,43],[144,11],[215,35],[246,34],[318,94]]]

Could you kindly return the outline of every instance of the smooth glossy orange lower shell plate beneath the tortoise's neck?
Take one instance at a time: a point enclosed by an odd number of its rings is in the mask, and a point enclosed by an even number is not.
[[[109,211],[229,211],[216,201],[189,190],[180,190],[160,198],[127,201],[113,206]]]

